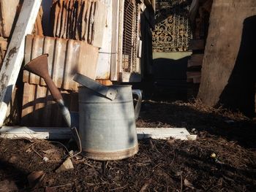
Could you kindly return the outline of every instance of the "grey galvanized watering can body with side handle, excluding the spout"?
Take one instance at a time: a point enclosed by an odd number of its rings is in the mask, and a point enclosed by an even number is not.
[[[83,155],[99,161],[128,158],[138,153],[135,112],[131,85],[111,85],[117,90],[110,99],[86,87],[79,88],[79,135]]]

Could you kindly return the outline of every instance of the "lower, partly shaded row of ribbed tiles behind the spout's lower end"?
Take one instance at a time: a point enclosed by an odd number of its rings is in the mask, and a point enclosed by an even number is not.
[[[78,112],[78,93],[61,90],[61,95],[69,110]],[[48,88],[29,83],[24,83],[21,124],[41,127],[67,126]]]

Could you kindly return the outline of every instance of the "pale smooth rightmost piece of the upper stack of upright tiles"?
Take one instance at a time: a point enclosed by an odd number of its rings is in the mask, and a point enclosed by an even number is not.
[[[95,2],[96,9],[94,15],[93,37],[91,45],[102,47],[103,34],[107,19],[107,7],[100,1]]]

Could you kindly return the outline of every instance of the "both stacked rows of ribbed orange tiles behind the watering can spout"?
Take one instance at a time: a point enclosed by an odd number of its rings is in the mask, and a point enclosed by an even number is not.
[[[66,106],[70,111],[78,112],[78,86],[80,84],[73,80],[73,76],[78,72],[95,79],[99,48],[73,39],[27,35],[25,64],[44,53],[48,53],[50,76],[60,89]],[[25,70],[23,82],[22,125],[67,126],[45,81]]]

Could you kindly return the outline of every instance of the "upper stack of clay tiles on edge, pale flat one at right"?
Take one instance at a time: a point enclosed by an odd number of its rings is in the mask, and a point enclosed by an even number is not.
[[[51,7],[53,37],[85,40],[102,47],[107,7],[97,0],[55,0]]]

